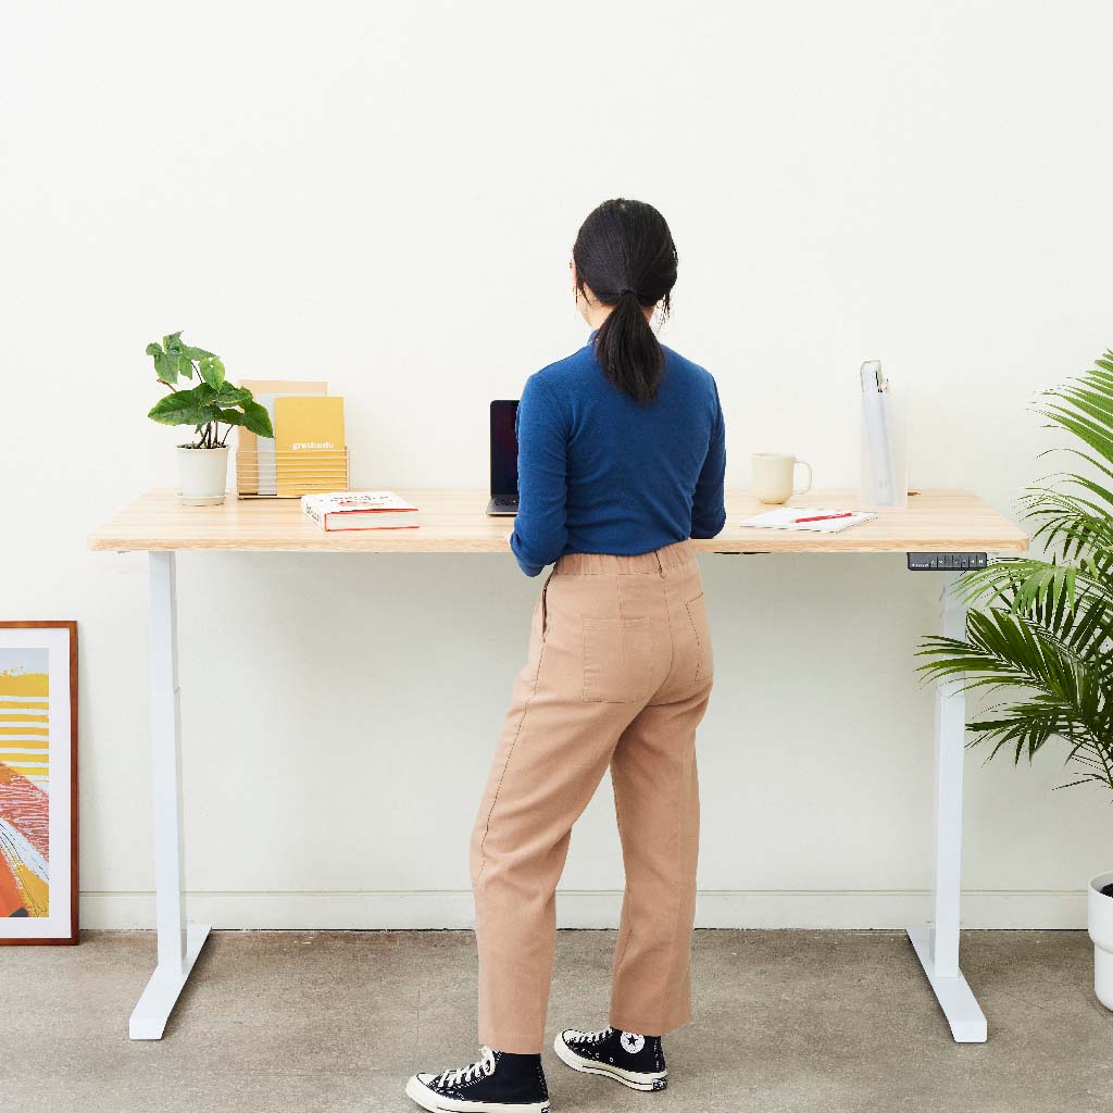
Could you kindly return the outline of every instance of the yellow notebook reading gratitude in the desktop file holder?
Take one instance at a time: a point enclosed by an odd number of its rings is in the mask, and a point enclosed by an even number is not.
[[[344,474],[344,398],[275,398],[279,499],[335,491]]]

